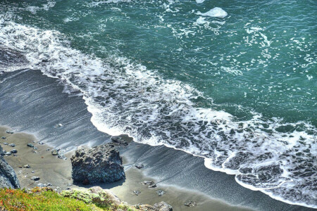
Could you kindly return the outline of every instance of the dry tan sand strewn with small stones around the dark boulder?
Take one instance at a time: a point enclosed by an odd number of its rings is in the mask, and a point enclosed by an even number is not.
[[[8,127],[0,126],[0,136],[6,136],[6,139],[1,139],[1,146],[4,150],[10,151],[15,148],[18,153],[5,156],[13,170],[15,170],[20,181],[21,188],[32,188],[37,184],[52,184],[50,187],[56,189],[58,192],[66,188],[80,188],[87,189],[92,186],[101,186],[101,188],[109,189],[121,200],[135,205],[135,204],[149,204],[159,203],[162,200],[173,206],[175,210],[210,210],[210,207],[216,210],[250,210],[247,207],[231,206],[222,200],[212,199],[209,196],[204,196],[204,193],[197,191],[190,191],[185,188],[176,186],[168,186],[157,184],[156,188],[148,188],[141,184],[142,181],[151,181],[154,178],[145,176],[142,171],[127,163],[127,158],[123,157],[123,166],[125,167],[125,179],[116,181],[112,184],[94,184],[88,186],[78,186],[73,184],[71,179],[71,163],[70,157],[74,151],[66,153],[67,160],[59,159],[57,156],[51,155],[51,147],[46,144],[39,144],[39,141],[32,134],[25,132],[14,132],[7,134],[6,131],[11,131]],[[7,143],[15,143],[15,147],[4,145],[4,140]],[[33,143],[35,148],[27,146],[27,143]],[[127,146],[129,147],[129,146]],[[49,151],[46,149],[50,148]],[[120,147],[119,147],[120,148]],[[33,151],[37,151],[34,153]],[[16,156],[15,156],[16,155]],[[23,167],[30,165],[30,168]],[[39,177],[38,181],[30,180],[30,177]],[[140,191],[137,196],[133,191]],[[159,196],[156,191],[164,191],[163,196]],[[187,201],[194,201],[197,203],[194,207],[187,207],[184,205]]]

